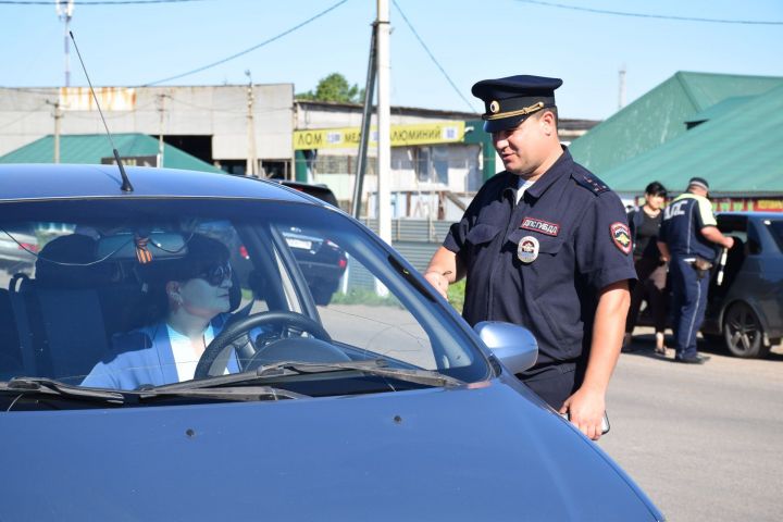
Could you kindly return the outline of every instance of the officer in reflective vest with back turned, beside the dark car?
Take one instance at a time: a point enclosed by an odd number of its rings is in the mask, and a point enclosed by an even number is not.
[[[691,178],[687,191],[666,208],[658,240],[662,258],[670,260],[674,360],[692,364],[704,364],[709,359],[696,350],[696,333],[707,308],[709,269],[717,257],[716,246],[734,245],[734,239],[716,226],[708,192],[707,179]]]

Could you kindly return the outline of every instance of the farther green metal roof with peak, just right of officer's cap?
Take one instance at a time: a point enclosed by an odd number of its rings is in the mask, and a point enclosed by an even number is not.
[[[685,121],[695,114],[728,98],[757,96],[781,85],[783,77],[679,72],[575,139],[569,150],[605,178],[625,161],[685,134]]]

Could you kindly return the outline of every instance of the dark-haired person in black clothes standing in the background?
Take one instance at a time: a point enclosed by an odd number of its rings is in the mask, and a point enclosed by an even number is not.
[[[631,344],[631,334],[638,320],[642,300],[647,298],[647,306],[656,331],[656,353],[666,355],[663,332],[666,330],[667,308],[667,263],[658,249],[658,234],[663,220],[661,208],[666,201],[667,190],[658,182],[645,188],[645,203],[638,210],[629,212],[629,227],[633,239],[633,260],[638,281],[632,285],[631,308],[625,321],[625,338],[623,348]]]

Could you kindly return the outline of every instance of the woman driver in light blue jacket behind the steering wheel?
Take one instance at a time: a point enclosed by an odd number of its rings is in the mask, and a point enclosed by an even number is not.
[[[115,335],[82,386],[135,389],[191,380],[204,348],[231,318],[232,269],[222,243],[195,234],[185,257],[152,261],[144,271],[147,326]],[[238,371],[232,350],[226,372]]]

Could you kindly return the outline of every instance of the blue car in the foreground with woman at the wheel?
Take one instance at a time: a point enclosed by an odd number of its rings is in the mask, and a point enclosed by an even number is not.
[[[0,520],[663,520],[514,377],[526,330],[301,191],[126,171],[0,166],[0,235],[37,245],[0,272]]]

